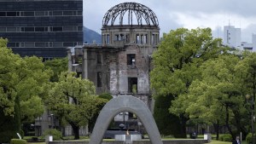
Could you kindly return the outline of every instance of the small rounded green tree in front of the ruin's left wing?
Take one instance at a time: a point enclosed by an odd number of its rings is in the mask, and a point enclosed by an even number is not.
[[[74,139],[79,139],[80,126],[88,124],[101,101],[96,97],[94,84],[75,75],[75,72],[61,72],[45,103],[50,112],[72,126]]]

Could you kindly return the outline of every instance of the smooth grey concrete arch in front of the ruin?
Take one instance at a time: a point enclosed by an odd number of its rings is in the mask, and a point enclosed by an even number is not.
[[[152,144],[163,144],[152,113],[143,101],[134,96],[118,96],[108,101],[96,120],[89,144],[101,144],[104,133],[113,117],[124,111],[135,113],[140,118]]]

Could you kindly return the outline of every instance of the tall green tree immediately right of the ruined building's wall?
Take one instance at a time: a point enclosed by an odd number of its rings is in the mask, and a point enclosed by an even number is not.
[[[198,69],[201,64],[212,58],[218,57],[224,48],[221,39],[212,38],[210,28],[184,29],[179,28],[164,34],[163,41],[154,52],[154,69],[150,72],[151,87],[154,96],[172,96],[174,101],[180,95],[188,93],[190,84],[201,78]],[[170,106],[172,107],[172,106]],[[182,124],[183,137],[185,137],[185,123],[187,118],[179,113]]]

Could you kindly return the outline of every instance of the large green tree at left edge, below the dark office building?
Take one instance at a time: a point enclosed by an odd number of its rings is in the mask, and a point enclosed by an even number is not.
[[[51,71],[37,57],[21,58],[7,48],[0,38],[0,133],[16,135],[20,123],[32,121],[44,112],[42,98],[46,94]],[[15,128],[13,128],[15,127]],[[2,137],[2,136],[1,136]],[[4,136],[6,140],[12,136]]]

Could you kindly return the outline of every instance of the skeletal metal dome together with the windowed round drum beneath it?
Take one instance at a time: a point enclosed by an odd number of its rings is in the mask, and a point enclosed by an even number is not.
[[[102,43],[106,45],[156,46],[159,23],[154,12],[140,3],[120,3],[109,9],[102,20]]]

